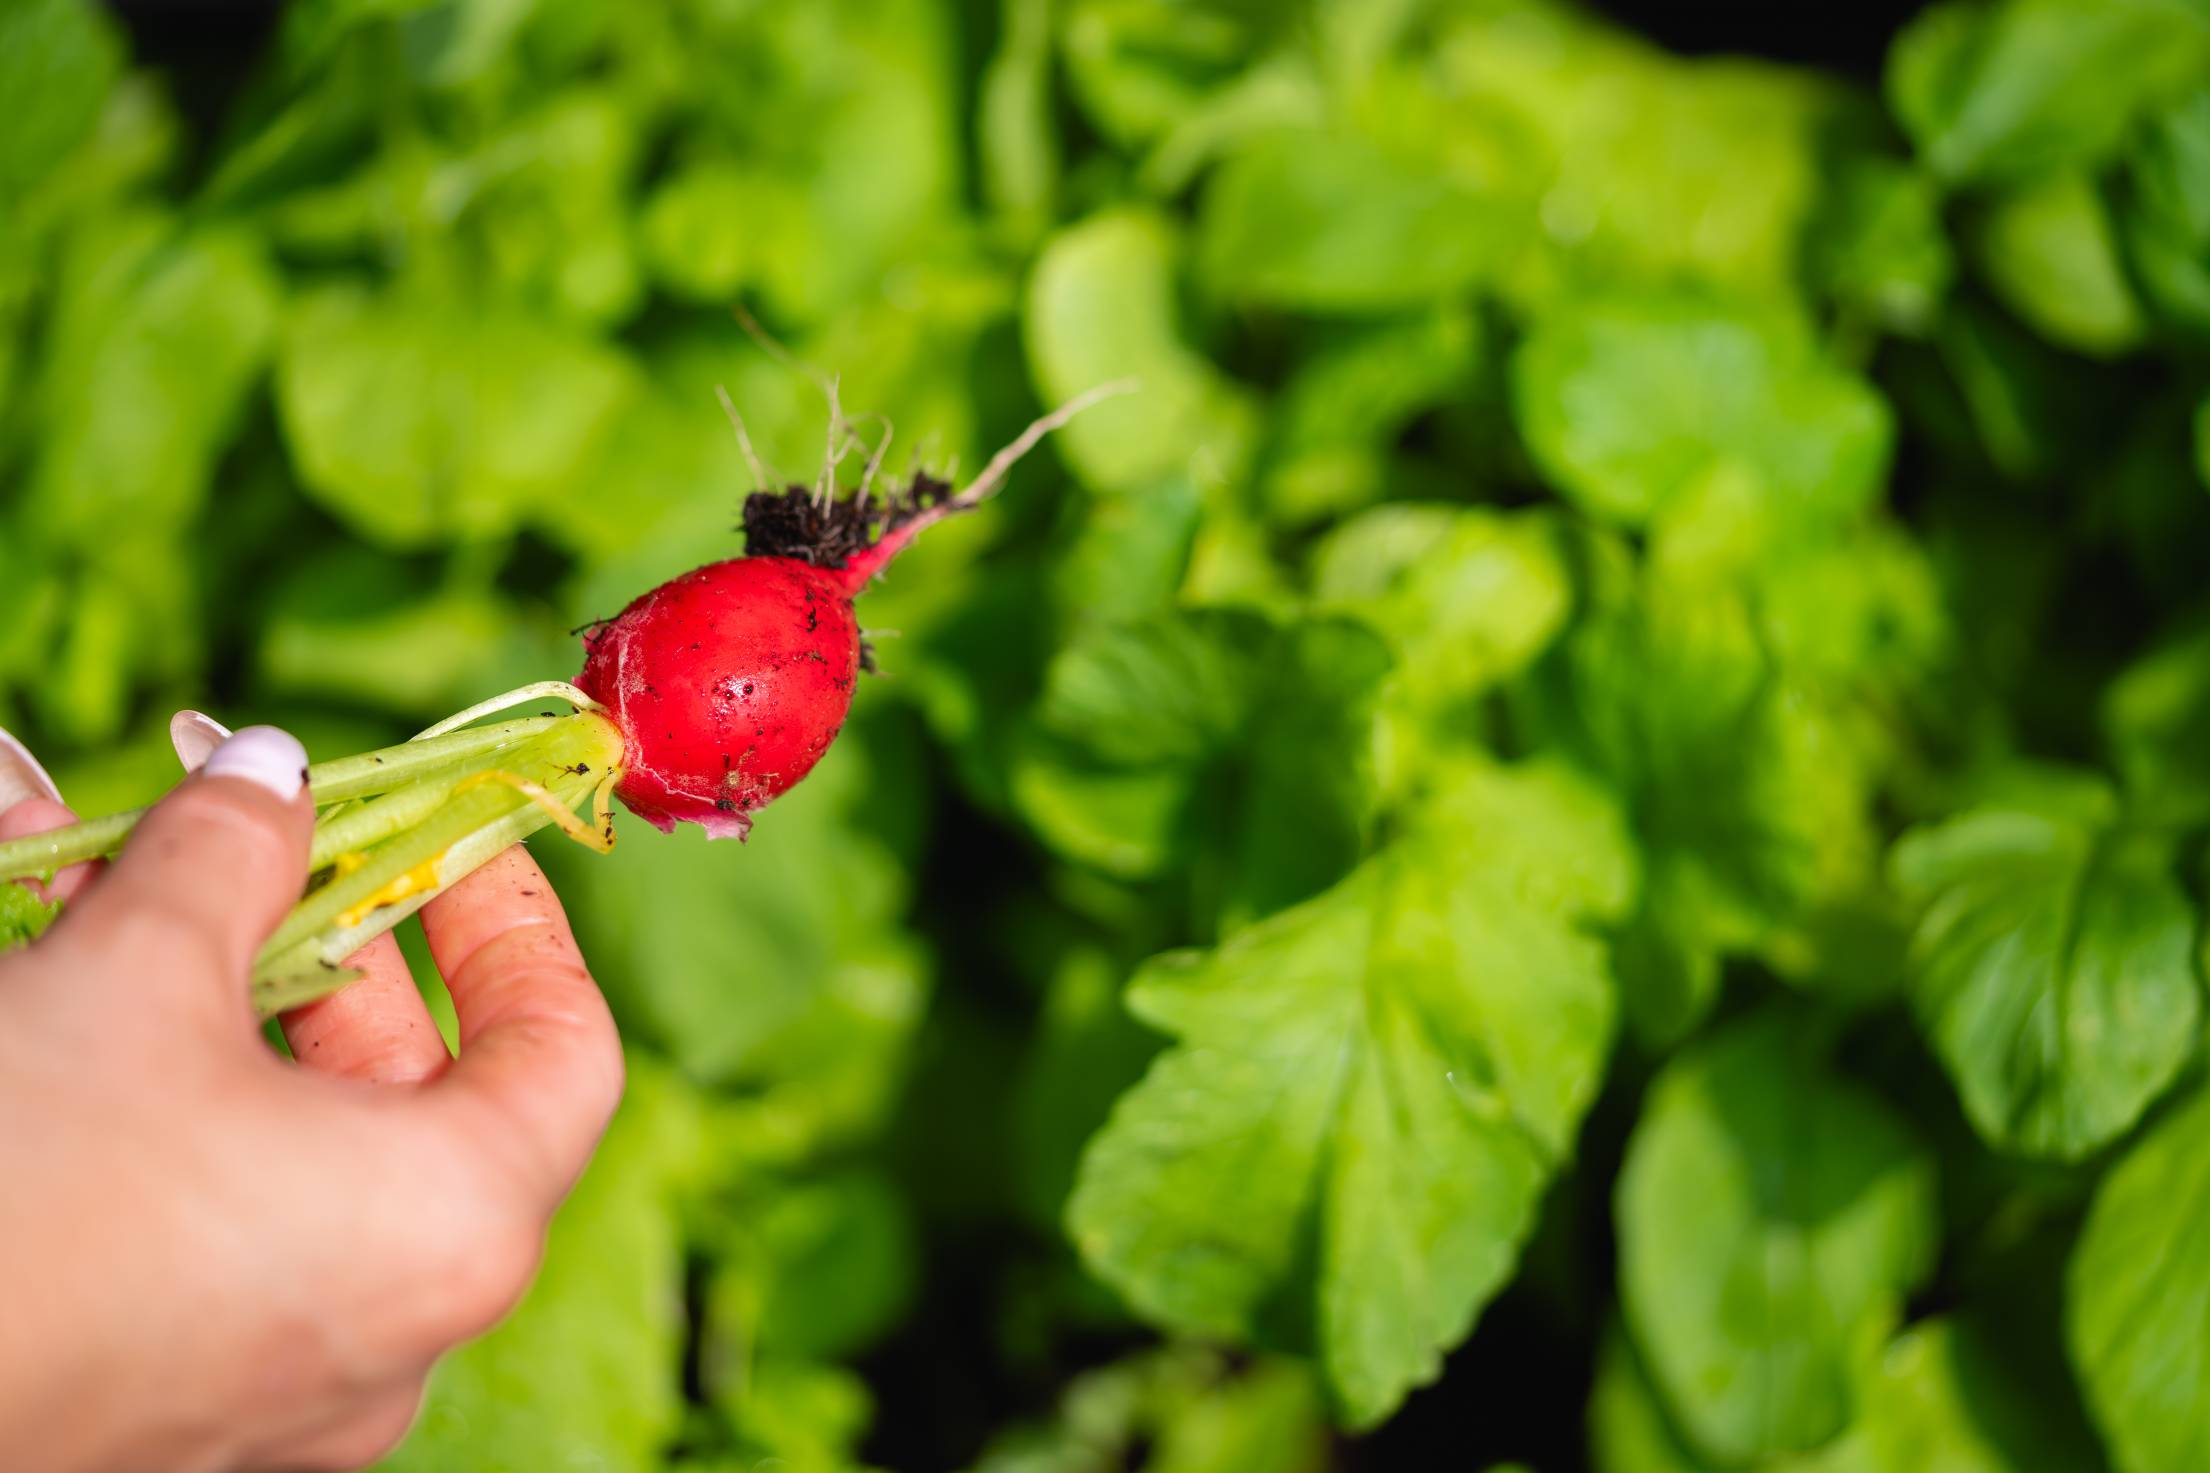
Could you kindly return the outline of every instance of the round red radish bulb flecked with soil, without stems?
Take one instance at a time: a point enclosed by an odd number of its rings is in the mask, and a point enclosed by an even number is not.
[[[886,537],[842,568],[707,563],[588,636],[575,682],[621,727],[621,802],[661,830],[687,819],[743,839],[751,810],[813,771],[844,729],[860,678],[851,601],[906,541]]]

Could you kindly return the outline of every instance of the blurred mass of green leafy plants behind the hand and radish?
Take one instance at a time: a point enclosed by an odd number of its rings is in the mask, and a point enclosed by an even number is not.
[[[899,470],[1143,384],[866,596],[749,846],[539,846],[634,1084],[391,1469],[2210,1466],[2201,0],[177,38],[0,2],[80,808],[738,552],[714,389],[827,415],[738,307]]]

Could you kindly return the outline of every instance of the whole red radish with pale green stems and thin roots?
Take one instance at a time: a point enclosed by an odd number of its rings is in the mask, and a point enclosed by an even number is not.
[[[838,495],[849,426],[829,384],[829,455],[815,486],[745,499],[745,557],[707,563],[586,625],[575,685],[548,680],[449,716],[413,742],[309,769],[316,802],[307,892],[254,963],[265,1016],[336,992],[343,958],[391,930],[508,844],[557,826],[594,850],[614,844],[612,799],[672,830],[745,837],[751,813],[820,762],[869,669],[853,601],[928,526],[988,499],[1034,444],[1098,400],[1103,384],[1043,415],[955,492],[917,473],[873,495],[875,448],[853,495]],[[732,420],[745,439],[743,420]],[[849,442],[846,442],[849,453]],[[572,716],[473,724],[559,698]],[[577,808],[590,804],[590,819]],[[0,886],[51,877],[122,848],[144,810],[0,844]],[[29,928],[22,928],[29,930]]]

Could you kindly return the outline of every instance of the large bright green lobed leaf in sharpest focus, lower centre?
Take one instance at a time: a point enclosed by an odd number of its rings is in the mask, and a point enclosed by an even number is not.
[[[1472,769],[1432,815],[1136,976],[1129,1007],[1178,1042],[1067,1204],[1083,1259],[1147,1316],[1311,1325],[1353,1424],[1432,1380],[1512,1272],[1611,1038],[1585,928],[1631,890],[1618,817],[1558,769]]]

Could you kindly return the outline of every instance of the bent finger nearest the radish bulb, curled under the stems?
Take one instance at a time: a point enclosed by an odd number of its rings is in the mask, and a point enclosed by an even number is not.
[[[550,1215],[621,1100],[621,1038],[568,916],[522,848],[422,910],[460,1018],[460,1058],[433,1091],[446,1124]]]

